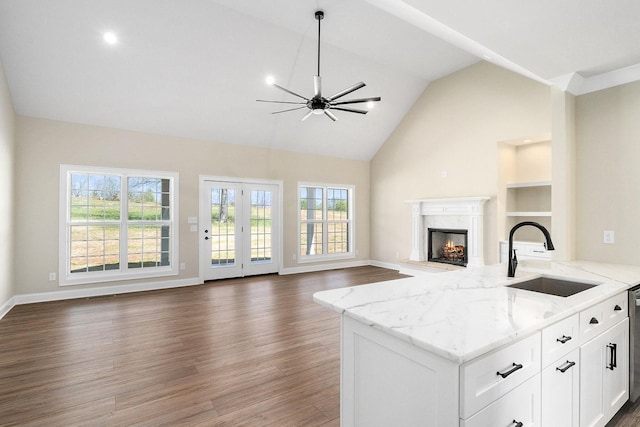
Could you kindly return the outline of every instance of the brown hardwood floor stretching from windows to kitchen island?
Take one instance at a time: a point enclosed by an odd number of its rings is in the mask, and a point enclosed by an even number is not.
[[[0,425],[338,426],[339,315],[316,291],[357,267],[14,307]]]

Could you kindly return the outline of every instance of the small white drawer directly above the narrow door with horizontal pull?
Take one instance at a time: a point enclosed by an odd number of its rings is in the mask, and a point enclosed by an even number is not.
[[[580,316],[578,313],[542,330],[542,367],[578,348]]]

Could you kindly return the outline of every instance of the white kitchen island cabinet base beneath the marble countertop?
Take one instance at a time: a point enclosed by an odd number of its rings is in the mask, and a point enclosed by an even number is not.
[[[626,293],[461,365],[345,315],[341,351],[343,427],[604,426],[629,395]]]

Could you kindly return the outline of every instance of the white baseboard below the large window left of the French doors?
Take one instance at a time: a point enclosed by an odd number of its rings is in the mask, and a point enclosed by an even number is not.
[[[159,289],[179,288],[183,286],[193,286],[201,284],[202,281],[197,277],[194,277],[162,282],[145,282],[131,285],[100,286],[95,288],[70,289],[55,292],[41,292],[36,294],[22,294],[16,295],[12,299],[13,305],[19,305],[31,304],[36,302],[62,301],[74,298],[90,298],[105,295],[127,294],[131,292],[154,291]],[[13,307],[13,305],[11,307]],[[11,307],[9,309],[11,309]],[[2,312],[0,311],[0,313]]]

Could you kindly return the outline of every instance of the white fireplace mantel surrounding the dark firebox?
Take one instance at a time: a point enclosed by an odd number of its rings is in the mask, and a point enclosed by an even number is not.
[[[483,217],[489,197],[407,200],[412,208],[411,261],[426,261],[426,230],[467,230],[467,265],[484,265]]]

